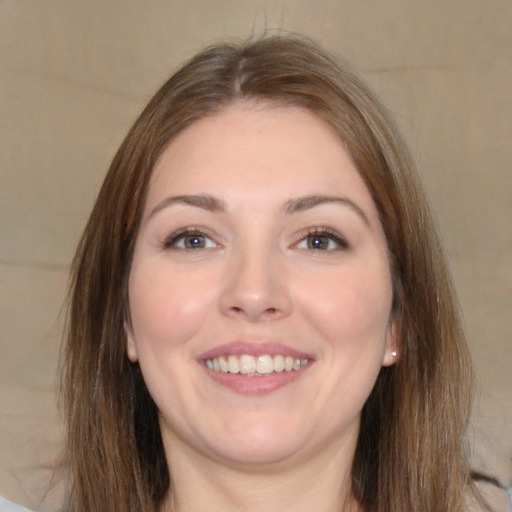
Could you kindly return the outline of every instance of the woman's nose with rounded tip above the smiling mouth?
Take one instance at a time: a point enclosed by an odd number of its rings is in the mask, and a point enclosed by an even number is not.
[[[289,283],[279,255],[245,251],[233,257],[227,274],[221,296],[224,315],[261,322],[290,314]]]

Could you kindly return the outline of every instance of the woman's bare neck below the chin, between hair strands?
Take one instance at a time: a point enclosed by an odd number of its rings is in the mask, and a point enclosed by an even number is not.
[[[240,468],[173,443],[171,491],[162,512],[361,512],[351,493],[346,451],[306,464]],[[349,460],[349,463],[347,463]]]

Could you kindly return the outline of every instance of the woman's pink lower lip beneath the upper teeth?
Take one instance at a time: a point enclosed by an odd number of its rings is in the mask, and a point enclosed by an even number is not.
[[[309,364],[300,370],[274,372],[268,375],[248,377],[240,373],[223,373],[203,367],[208,376],[218,384],[243,395],[264,395],[272,393],[299,379],[309,368]]]

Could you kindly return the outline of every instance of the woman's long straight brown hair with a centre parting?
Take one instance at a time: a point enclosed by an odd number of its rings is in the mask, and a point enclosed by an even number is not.
[[[62,365],[68,510],[156,511],[170,492],[157,410],[126,356],[130,262],[157,158],[188,125],[237,100],[301,106],[333,127],[386,233],[401,355],[363,410],[355,496],[367,511],[463,510],[472,371],[423,188],[367,86],[297,37],[201,52],[155,94],[114,157],[73,261]]]

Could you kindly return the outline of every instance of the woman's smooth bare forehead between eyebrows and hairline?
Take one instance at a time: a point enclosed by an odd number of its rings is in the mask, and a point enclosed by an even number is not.
[[[147,205],[177,193],[276,201],[350,194],[374,210],[334,129],[306,109],[271,103],[230,105],[173,139],[155,165]]]

